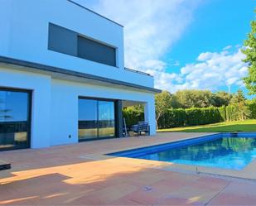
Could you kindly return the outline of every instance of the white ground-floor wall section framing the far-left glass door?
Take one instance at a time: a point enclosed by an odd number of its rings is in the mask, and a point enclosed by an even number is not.
[[[0,67],[0,87],[32,91],[31,147],[50,146],[51,77]]]

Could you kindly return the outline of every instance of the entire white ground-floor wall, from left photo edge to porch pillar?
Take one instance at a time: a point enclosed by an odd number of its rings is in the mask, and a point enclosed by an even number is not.
[[[156,133],[153,93],[52,79],[4,66],[0,66],[0,87],[32,90],[31,148],[78,142],[79,96],[146,103],[145,120],[151,135]]]

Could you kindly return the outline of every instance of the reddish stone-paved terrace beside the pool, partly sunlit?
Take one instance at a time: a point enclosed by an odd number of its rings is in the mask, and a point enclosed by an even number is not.
[[[163,170],[161,162],[103,156],[196,137],[158,133],[40,150],[4,151],[0,205],[256,205],[256,183]],[[170,164],[170,163],[169,163]]]

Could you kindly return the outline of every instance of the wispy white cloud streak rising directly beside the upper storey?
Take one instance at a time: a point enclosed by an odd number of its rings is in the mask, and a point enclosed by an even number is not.
[[[125,65],[144,71],[167,65],[162,56],[186,31],[201,1],[76,0],[124,26]]]

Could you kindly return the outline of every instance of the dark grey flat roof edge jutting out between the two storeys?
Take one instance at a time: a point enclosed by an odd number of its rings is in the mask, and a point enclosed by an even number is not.
[[[26,61],[26,60],[17,60],[17,59],[13,59],[13,58],[1,56],[1,55],[0,55],[0,63],[7,64],[7,65],[19,65],[19,66],[36,69],[36,70],[41,70],[41,71],[45,71],[45,72],[65,74],[65,75],[69,75],[69,76],[73,76],[73,77],[79,77],[79,78],[83,78],[83,79],[91,79],[91,80],[96,80],[96,81],[109,83],[109,84],[123,85],[123,86],[129,87],[129,88],[142,89],[142,90],[146,90],[146,91],[152,92],[152,93],[161,93],[162,92],[162,90],[160,90],[160,89],[154,89],[154,88],[142,86],[139,84],[132,84],[132,83],[128,83],[128,82],[119,81],[116,79],[104,78],[104,77],[96,76],[93,74],[85,74],[85,73],[73,71],[70,69],[62,69],[62,68],[50,66],[50,65],[41,65],[41,64]]]

